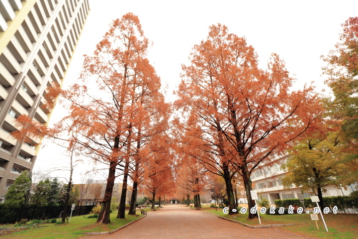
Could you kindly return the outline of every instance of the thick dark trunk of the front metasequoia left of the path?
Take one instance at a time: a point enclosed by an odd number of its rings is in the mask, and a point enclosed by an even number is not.
[[[110,162],[109,164],[107,185],[104,191],[104,198],[102,201],[101,211],[98,215],[97,223],[103,223],[103,224],[110,223],[110,219],[109,219],[110,201],[112,199],[116,165],[117,165],[116,162]]]

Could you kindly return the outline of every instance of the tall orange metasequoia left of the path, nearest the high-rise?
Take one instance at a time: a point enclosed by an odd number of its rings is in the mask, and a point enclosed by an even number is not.
[[[137,16],[127,13],[114,20],[93,54],[85,56],[80,76],[83,84],[75,84],[67,91],[59,87],[49,89],[49,104],[58,94],[70,101],[69,116],[55,125],[57,132],[29,122],[25,117],[22,119],[26,126],[23,134],[54,135],[68,131],[83,155],[109,166],[97,220],[104,224],[110,222],[114,179],[119,175],[116,169],[124,178],[128,177],[133,155],[138,154],[138,147],[133,143],[148,136],[148,125],[156,125],[155,117],[163,118],[168,110],[164,109],[168,105],[159,92],[160,79],[146,59],[147,48],[148,39]],[[148,117],[152,114],[155,116]],[[123,185],[126,186],[126,179]],[[121,195],[120,205],[124,204],[124,198],[125,195]],[[124,211],[120,217],[124,218]]]

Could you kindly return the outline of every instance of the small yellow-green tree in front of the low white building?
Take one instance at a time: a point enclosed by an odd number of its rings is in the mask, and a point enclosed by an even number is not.
[[[341,188],[355,182],[340,180],[350,172],[352,149],[347,148],[337,125],[325,129],[323,134],[315,133],[301,138],[281,166],[288,172],[282,178],[283,186],[290,188],[294,184],[302,187],[302,191],[312,190],[318,196],[321,208],[324,208],[322,192],[326,191],[326,186]]]

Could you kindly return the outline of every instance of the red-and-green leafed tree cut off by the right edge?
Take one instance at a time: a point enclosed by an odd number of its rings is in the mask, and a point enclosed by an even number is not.
[[[340,42],[335,45],[328,56],[323,57],[327,66],[323,68],[328,77],[326,84],[331,88],[334,98],[328,98],[329,117],[342,120],[342,130],[347,144],[358,149],[358,17],[350,17],[342,24],[343,32]],[[346,174],[346,181],[358,177],[358,156],[352,155],[351,173]]]

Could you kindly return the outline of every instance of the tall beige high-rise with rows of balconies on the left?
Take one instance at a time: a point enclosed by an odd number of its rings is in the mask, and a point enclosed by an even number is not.
[[[0,202],[40,147],[10,135],[14,120],[48,122],[46,88],[62,85],[88,14],[88,0],[0,0]]]

